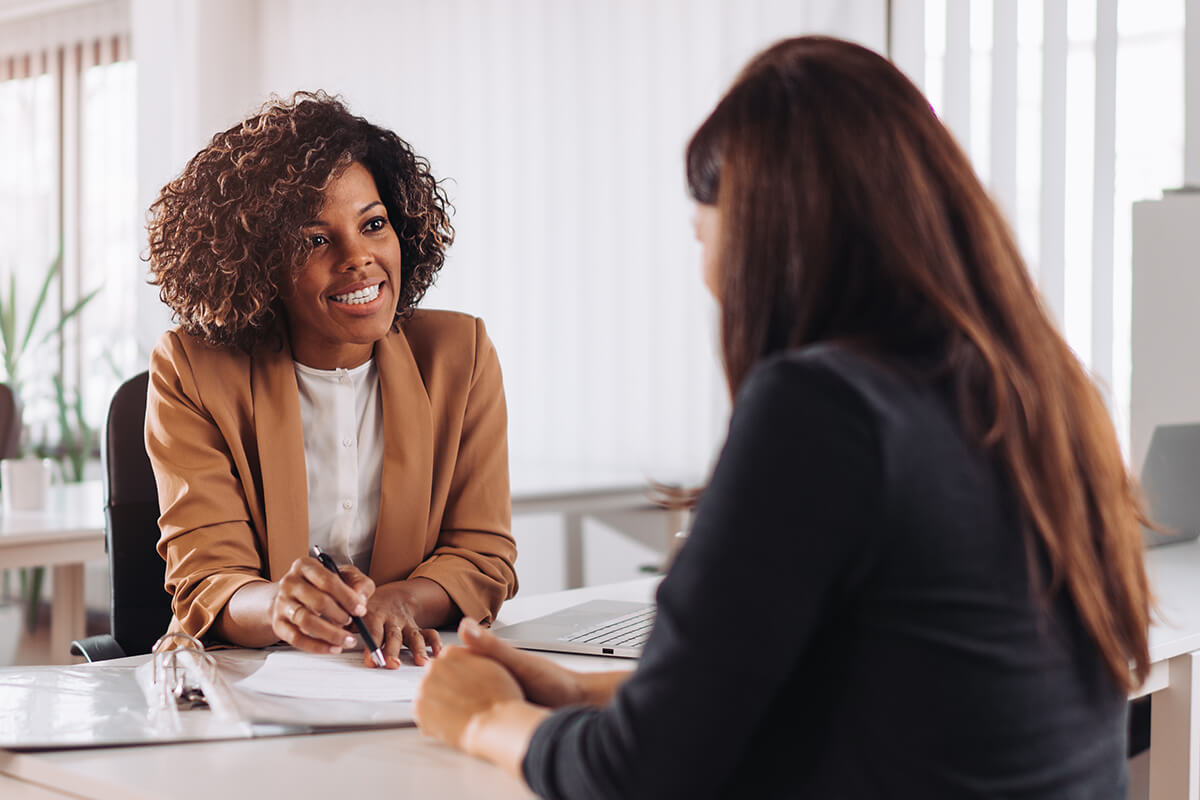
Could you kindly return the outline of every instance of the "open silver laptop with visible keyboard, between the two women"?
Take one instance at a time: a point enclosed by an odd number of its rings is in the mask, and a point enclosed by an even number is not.
[[[654,603],[593,600],[492,632],[523,650],[637,658],[653,626]]]

